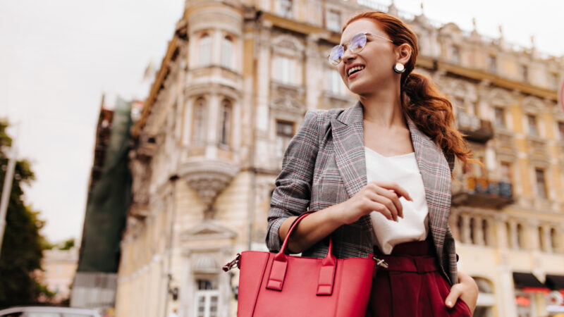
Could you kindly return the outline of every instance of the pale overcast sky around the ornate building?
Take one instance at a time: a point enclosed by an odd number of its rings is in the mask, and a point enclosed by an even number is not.
[[[378,1],[389,5],[391,0]],[[427,17],[463,30],[564,55],[564,1],[425,0]],[[412,14],[421,1],[395,0]],[[102,94],[145,99],[142,77],[159,66],[182,0],[0,0],[0,118],[36,180],[25,201],[51,242],[80,238]],[[151,79],[152,81],[153,79]],[[17,127],[17,128],[16,128]],[[16,135],[17,134],[17,135]]]

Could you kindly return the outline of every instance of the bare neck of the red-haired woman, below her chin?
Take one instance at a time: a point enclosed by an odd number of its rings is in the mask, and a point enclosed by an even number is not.
[[[406,128],[403,118],[400,86],[382,87],[371,94],[362,94],[360,102],[364,106],[364,121],[375,123],[381,128]]]

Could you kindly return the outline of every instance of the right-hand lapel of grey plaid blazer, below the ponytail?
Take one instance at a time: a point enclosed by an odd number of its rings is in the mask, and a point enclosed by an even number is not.
[[[407,120],[419,173],[425,187],[425,198],[429,209],[429,230],[442,263],[443,247],[450,213],[450,168],[442,149],[415,123]]]

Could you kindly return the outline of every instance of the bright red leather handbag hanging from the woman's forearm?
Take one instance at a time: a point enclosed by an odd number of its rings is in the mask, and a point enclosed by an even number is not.
[[[289,256],[288,238],[308,214],[295,220],[277,254],[244,251],[223,266],[240,268],[237,316],[364,316],[374,263],[386,263],[372,254],[336,259],[331,239],[324,259]]]

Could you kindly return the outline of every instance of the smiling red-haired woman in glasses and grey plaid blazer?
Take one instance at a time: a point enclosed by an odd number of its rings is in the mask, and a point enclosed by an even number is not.
[[[323,257],[331,235],[338,258],[376,252],[389,262],[367,316],[470,316],[477,285],[457,273],[448,213],[455,157],[476,161],[450,102],[412,73],[416,58],[415,34],[398,18],[367,12],[346,23],[329,60],[360,100],[306,114],[276,180],[266,243],[278,251],[309,207],[290,250]]]

